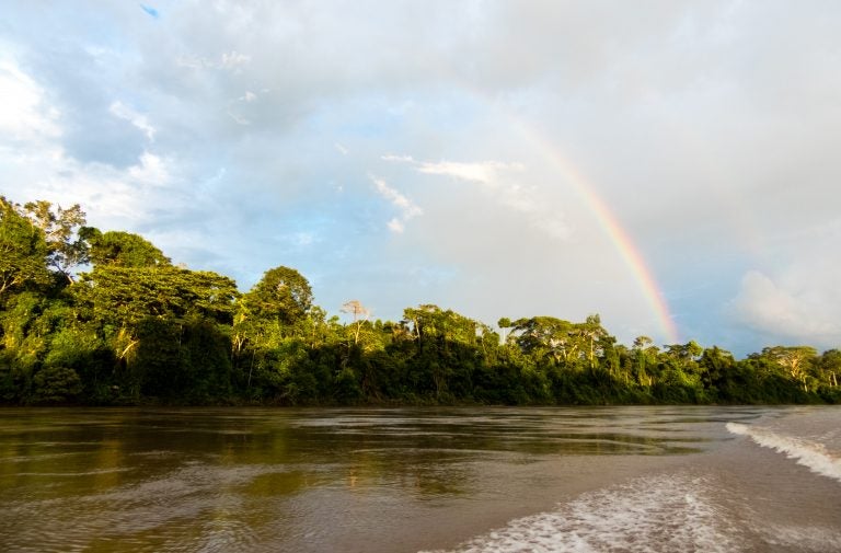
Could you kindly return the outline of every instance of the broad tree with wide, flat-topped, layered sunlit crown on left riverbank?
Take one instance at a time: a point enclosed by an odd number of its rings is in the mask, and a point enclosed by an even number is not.
[[[69,290],[87,324],[111,345],[124,398],[223,393],[231,348],[224,330],[239,293],[232,279],[173,266],[108,264],[80,277]]]

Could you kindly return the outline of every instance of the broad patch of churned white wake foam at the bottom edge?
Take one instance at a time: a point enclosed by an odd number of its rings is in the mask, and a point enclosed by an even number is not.
[[[703,479],[664,474],[591,492],[554,511],[512,520],[460,553],[729,552],[738,531],[708,498]]]

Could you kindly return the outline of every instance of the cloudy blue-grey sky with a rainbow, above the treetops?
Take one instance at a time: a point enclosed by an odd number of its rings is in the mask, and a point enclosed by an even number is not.
[[[331,314],[841,346],[841,3],[9,2],[0,194]]]

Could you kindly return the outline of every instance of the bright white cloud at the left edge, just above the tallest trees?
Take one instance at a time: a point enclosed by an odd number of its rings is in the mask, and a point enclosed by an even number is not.
[[[44,90],[8,59],[0,61],[0,173],[4,193],[15,201],[46,199],[62,206],[80,204],[91,224],[136,230],[160,212],[184,204],[170,159],[145,151],[119,169],[83,162],[62,145],[66,123],[45,100]],[[151,141],[148,119],[117,101],[108,113],[129,120]],[[5,142],[5,143],[3,143]],[[8,192],[7,192],[8,188]]]

